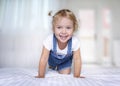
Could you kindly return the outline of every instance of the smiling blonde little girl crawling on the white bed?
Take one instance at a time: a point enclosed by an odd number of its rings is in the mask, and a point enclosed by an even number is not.
[[[44,78],[46,65],[60,74],[70,74],[74,59],[74,77],[80,77],[81,55],[78,39],[73,33],[78,28],[75,15],[68,9],[58,11],[52,20],[53,34],[43,42],[37,78]]]

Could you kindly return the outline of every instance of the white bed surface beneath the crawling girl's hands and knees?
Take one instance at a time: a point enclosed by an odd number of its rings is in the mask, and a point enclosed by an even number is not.
[[[46,77],[34,78],[37,68],[0,68],[0,86],[120,86],[120,68],[83,67],[86,78],[74,78],[48,70]]]

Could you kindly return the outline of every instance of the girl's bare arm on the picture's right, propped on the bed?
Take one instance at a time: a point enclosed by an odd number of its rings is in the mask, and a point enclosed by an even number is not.
[[[73,52],[73,59],[74,59],[74,77],[80,77],[82,65],[80,49]]]

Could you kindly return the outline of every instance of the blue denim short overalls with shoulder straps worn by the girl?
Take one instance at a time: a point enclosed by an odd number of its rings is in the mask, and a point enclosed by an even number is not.
[[[49,68],[53,70],[62,70],[64,68],[71,67],[73,52],[71,50],[72,47],[72,38],[68,41],[68,50],[66,55],[60,55],[57,53],[57,39],[55,35],[53,35],[53,49],[50,51],[48,64]]]

